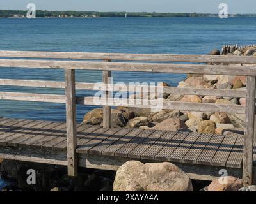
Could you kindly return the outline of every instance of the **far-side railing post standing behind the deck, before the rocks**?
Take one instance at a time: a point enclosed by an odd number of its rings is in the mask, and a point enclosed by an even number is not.
[[[111,62],[111,60],[104,60],[104,62]],[[111,71],[102,72],[102,82],[109,84],[109,77]],[[104,91],[104,98],[109,98],[109,91]],[[103,128],[111,128],[111,106],[103,106]]]

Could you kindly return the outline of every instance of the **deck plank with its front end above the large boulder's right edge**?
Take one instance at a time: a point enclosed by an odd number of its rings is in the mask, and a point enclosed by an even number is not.
[[[202,133],[196,142],[192,145],[191,149],[183,157],[182,163],[196,164],[197,158],[200,156],[205,146],[211,140],[213,134]]]

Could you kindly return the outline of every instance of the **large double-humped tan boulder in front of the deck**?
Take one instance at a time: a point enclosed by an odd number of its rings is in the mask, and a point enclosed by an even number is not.
[[[193,191],[191,179],[172,163],[128,161],[116,172],[113,191]]]

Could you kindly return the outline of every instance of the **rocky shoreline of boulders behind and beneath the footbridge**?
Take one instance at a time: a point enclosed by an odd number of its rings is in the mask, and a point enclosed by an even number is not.
[[[213,50],[211,55],[253,55],[256,47],[232,47],[231,51]],[[227,65],[227,64],[225,64]],[[246,66],[246,64],[242,64]],[[241,64],[239,64],[241,66]],[[162,82],[167,87],[168,84]],[[246,88],[246,77],[221,75],[188,75],[179,83],[182,88],[236,89]],[[130,96],[140,99],[156,99],[149,96]],[[191,96],[181,94],[163,94],[164,101],[181,101],[186,103],[215,103],[245,105],[245,98],[216,96]],[[191,131],[214,133],[216,135],[244,135],[244,115],[182,112],[180,110],[158,110],[148,108],[117,107],[111,110],[112,127],[157,129],[166,131]],[[102,124],[103,110],[97,108],[86,113],[83,123]],[[3,191],[255,191],[255,186],[243,188],[240,179],[227,177],[227,184],[221,185],[218,180],[199,182],[189,179],[188,175],[171,163],[143,164],[138,161],[125,163],[116,172],[101,170],[79,170],[79,178],[70,180],[65,167],[44,164],[22,163],[18,161],[1,161],[1,176],[8,179],[9,185]],[[38,170],[38,186],[28,186],[26,175],[28,168]],[[139,173],[138,173],[139,172]],[[143,178],[143,179],[141,179]],[[179,178],[179,179],[177,179]],[[205,187],[207,186],[207,187]]]

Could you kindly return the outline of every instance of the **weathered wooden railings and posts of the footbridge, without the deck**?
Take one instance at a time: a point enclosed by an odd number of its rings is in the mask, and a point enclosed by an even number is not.
[[[0,92],[0,99],[18,101],[40,101],[65,103],[67,107],[67,161],[68,175],[77,176],[76,158],[76,104],[95,105],[95,98],[76,97],[76,89],[95,90],[94,83],[75,82],[75,70],[102,71],[102,87],[104,98],[97,105],[104,106],[104,127],[111,127],[111,106],[136,106],[150,108],[151,105],[136,105],[127,99],[109,100],[109,91],[119,91],[120,85],[111,84],[111,71],[134,71],[151,73],[186,73],[207,75],[239,75],[246,76],[246,90],[196,89],[163,87],[169,94],[188,94],[202,96],[244,97],[246,106],[210,103],[181,103],[164,101],[163,109],[223,112],[246,114],[244,138],[243,181],[246,186],[252,184],[253,174],[253,136],[255,122],[255,77],[256,57],[212,56],[212,55],[171,55],[171,54],[108,54],[108,53],[70,53],[70,52],[18,52],[0,51],[0,68],[44,68],[65,69],[65,82],[48,82],[35,80],[1,79],[0,85],[23,87],[65,88],[65,96],[53,94],[28,94],[17,92]],[[19,58],[19,59],[17,59]],[[22,59],[26,58],[26,59]],[[31,58],[31,59],[28,59]],[[62,60],[57,60],[62,59]],[[65,60],[63,60],[65,59]],[[68,61],[72,59],[72,61]],[[74,61],[76,59],[76,61]],[[81,61],[83,59],[83,61]],[[86,60],[86,61],[84,61]],[[96,60],[96,61],[95,61]],[[122,61],[122,62],[120,62]],[[193,62],[196,64],[174,64],[170,62]],[[200,64],[207,63],[207,64]],[[221,63],[221,64],[220,64]],[[229,64],[229,65],[223,65]],[[236,64],[236,65],[234,65]],[[237,64],[241,64],[238,65]],[[243,66],[242,64],[246,64]],[[251,64],[251,65],[250,65]],[[139,85],[141,89],[143,85]],[[128,91],[138,88],[127,85]],[[100,89],[102,90],[102,89]]]

